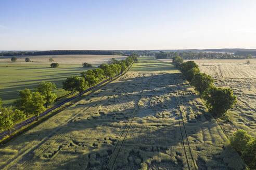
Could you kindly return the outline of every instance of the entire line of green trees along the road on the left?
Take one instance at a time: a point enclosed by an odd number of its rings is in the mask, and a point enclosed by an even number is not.
[[[78,91],[80,96],[86,88],[92,88],[103,78],[112,78],[114,75],[123,72],[133,62],[137,62],[137,56],[132,54],[125,60],[118,61],[114,58],[111,59],[110,64],[101,64],[99,68],[89,69],[80,73],[79,76],[70,76],[63,81],[63,89],[70,91],[72,94],[74,91]],[[2,100],[0,98],[0,129],[8,130],[9,135],[11,133],[12,126],[21,120],[34,115],[39,119],[41,112],[53,104],[57,98],[56,94],[52,91],[56,89],[56,86],[52,82],[41,82],[35,88],[34,92],[25,88],[18,92],[18,98],[15,101],[16,108],[3,107]]]

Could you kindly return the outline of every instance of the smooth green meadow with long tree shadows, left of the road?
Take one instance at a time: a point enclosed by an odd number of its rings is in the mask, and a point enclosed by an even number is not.
[[[60,64],[58,68],[50,68],[49,65],[41,62],[0,63],[0,98],[4,104],[13,104],[20,90],[33,90],[42,81],[55,83],[57,89],[53,92],[57,96],[65,95],[67,92],[62,89],[62,81],[87,70],[81,64]]]

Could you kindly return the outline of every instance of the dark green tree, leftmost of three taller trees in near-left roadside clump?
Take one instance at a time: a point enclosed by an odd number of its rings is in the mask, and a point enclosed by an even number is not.
[[[18,92],[20,98],[16,100],[16,107],[24,111],[28,117],[30,108],[29,105],[32,100],[32,95],[29,89],[24,89]]]

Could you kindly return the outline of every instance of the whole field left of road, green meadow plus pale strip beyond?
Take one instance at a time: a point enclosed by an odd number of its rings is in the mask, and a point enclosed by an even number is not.
[[[93,66],[107,63],[111,58],[125,59],[118,55],[42,55],[28,56],[33,62],[25,62],[27,56],[17,56],[17,62],[11,62],[11,56],[0,56],[0,98],[4,104],[14,104],[17,93],[24,88],[34,89],[40,82],[53,82],[57,96],[67,94],[62,89],[62,81],[68,76],[80,75],[82,63],[88,62]],[[59,63],[58,68],[50,68],[49,58]]]

